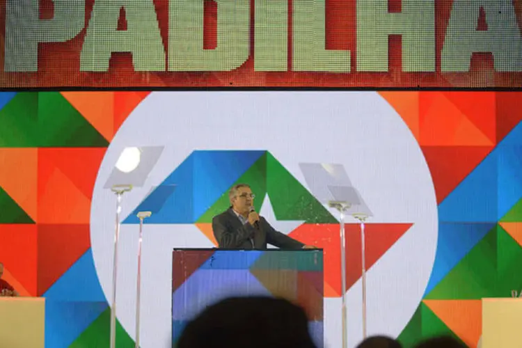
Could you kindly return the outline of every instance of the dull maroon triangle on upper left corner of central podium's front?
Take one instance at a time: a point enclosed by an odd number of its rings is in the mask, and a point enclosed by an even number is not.
[[[172,292],[175,292],[212,255],[213,250],[174,251],[172,258]]]

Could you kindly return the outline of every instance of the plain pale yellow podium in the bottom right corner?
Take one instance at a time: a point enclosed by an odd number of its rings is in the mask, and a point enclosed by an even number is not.
[[[522,342],[522,299],[482,299],[482,348],[514,348]]]

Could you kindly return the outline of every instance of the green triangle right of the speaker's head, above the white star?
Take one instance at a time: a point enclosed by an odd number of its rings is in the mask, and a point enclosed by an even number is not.
[[[267,155],[267,190],[278,220],[337,223],[330,212],[270,153]]]

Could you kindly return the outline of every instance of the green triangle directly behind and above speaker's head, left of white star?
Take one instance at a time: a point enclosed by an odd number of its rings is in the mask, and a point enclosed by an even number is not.
[[[217,214],[221,214],[228,207],[230,207],[230,200],[228,199],[228,191],[236,184],[249,184],[252,192],[255,194],[254,207],[256,210],[261,209],[264,196],[267,193],[267,154],[264,153],[254,164],[248,168],[230,187],[223,193],[223,195],[216,200],[216,203],[210,207],[205,214],[200,216],[196,223],[211,223],[212,218]]]

